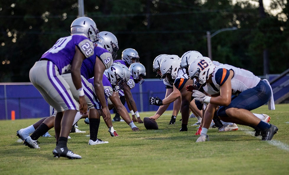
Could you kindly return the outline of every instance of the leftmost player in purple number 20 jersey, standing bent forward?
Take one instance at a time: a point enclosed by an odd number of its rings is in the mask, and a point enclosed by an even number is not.
[[[29,78],[46,102],[57,111],[54,125],[57,145],[53,150],[54,156],[73,159],[81,156],[67,148],[67,137],[73,122],[71,116],[75,116],[78,110],[87,112],[80,67],[85,58],[94,54],[93,42],[98,40],[98,29],[92,19],[80,17],[72,22],[71,33],[72,35],[68,37],[60,38],[41,56],[30,69]],[[72,73],[73,84],[79,92],[79,107],[61,76],[69,70]],[[34,143],[36,140],[28,140],[28,142]]]

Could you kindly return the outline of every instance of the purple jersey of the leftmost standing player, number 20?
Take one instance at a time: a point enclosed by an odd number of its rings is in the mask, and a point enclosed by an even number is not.
[[[53,47],[41,56],[40,60],[47,59],[52,61],[58,67],[59,74],[61,75],[71,68],[75,46],[79,48],[86,58],[92,56],[94,53],[94,45],[87,37],[70,35],[59,38]]]

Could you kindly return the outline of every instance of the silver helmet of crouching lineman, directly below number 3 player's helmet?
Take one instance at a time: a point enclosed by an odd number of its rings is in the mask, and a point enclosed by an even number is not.
[[[113,63],[111,67],[106,71],[107,78],[113,86],[113,90],[118,92],[120,89],[123,89],[123,84],[126,82],[124,68],[117,64]]]

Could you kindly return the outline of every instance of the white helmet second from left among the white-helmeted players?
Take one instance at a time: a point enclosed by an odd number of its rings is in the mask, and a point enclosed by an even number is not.
[[[168,55],[160,63],[162,78],[164,78],[167,83],[173,84],[174,80],[177,77],[179,68],[180,57],[178,57],[178,55]]]

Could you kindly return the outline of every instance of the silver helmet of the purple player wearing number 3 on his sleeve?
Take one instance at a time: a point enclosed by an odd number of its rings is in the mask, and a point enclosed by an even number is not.
[[[99,32],[98,34],[98,46],[105,48],[108,52],[111,53],[113,60],[116,59],[118,51],[118,42],[115,35],[111,32]]]

